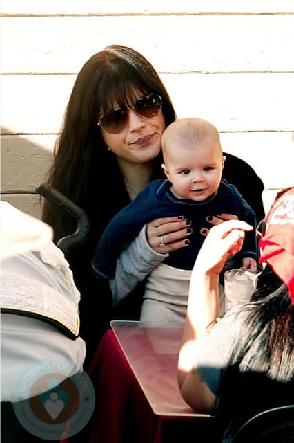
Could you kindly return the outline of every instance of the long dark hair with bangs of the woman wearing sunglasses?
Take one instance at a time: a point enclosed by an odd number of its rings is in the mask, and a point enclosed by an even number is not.
[[[166,126],[175,120],[166,88],[143,55],[119,45],[107,46],[92,55],[77,75],[48,172],[50,185],[81,206],[90,221],[95,217],[93,206],[97,201],[104,206],[104,213],[109,213],[99,218],[100,230],[121,209],[111,200],[112,193],[115,196],[118,190],[124,192],[124,186],[116,157],[107,150],[97,122],[99,115],[113,109],[114,102],[119,107],[133,105],[134,89],[144,94],[159,93]],[[160,154],[153,161],[155,177],[162,174],[161,163]],[[118,195],[116,199],[125,201],[125,197]],[[55,240],[74,228],[74,221],[62,208],[49,201],[44,202],[42,219],[55,229]]]

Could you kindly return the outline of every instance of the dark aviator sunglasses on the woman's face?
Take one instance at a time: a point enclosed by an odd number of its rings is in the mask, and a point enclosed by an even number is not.
[[[128,123],[128,109],[133,109],[141,117],[153,118],[159,114],[161,108],[161,96],[157,93],[150,93],[139,98],[129,108],[117,108],[108,112],[108,114],[104,114],[99,118],[97,125],[103,127],[108,134],[119,134]]]

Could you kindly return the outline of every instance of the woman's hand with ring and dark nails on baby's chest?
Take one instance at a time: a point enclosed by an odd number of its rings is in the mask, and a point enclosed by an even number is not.
[[[150,221],[146,228],[148,243],[156,252],[164,254],[184,248],[190,243],[187,239],[192,233],[190,224],[182,215]]]

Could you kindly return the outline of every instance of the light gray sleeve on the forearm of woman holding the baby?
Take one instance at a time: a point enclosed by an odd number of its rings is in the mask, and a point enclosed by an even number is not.
[[[146,225],[144,225],[139,235],[124,248],[117,260],[115,278],[109,282],[112,291],[112,307],[128,296],[130,291],[166,257],[168,253],[157,253],[148,244]]]

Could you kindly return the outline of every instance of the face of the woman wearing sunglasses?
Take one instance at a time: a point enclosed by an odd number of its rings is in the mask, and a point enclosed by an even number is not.
[[[141,94],[137,94],[137,99]],[[125,127],[118,134],[109,134],[100,126],[102,137],[110,150],[124,161],[148,163],[155,159],[161,150],[161,134],[166,123],[162,110],[157,116],[146,118],[128,109]]]

